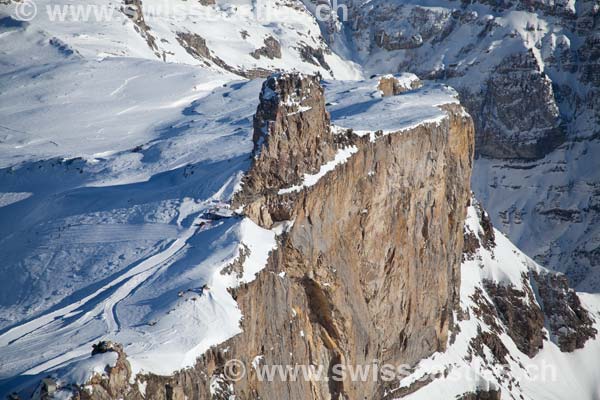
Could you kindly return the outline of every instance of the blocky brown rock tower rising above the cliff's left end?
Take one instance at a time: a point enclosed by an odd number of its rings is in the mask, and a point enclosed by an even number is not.
[[[264,226],[290,219],[293,201],[279,189],[302,182],[333,159],[337,145],[316,76],[274,75],[263,84],[254,117],[254,162],[234,207]],[[294,197],[294,196],[291,196]]]

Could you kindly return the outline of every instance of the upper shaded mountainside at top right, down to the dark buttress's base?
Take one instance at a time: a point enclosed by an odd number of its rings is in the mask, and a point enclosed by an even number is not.
[[[459,90],[480,156],[539,159],[600,133],[597,2],[347,4],[341,33],[355,60],[367,73],[410,70]]]

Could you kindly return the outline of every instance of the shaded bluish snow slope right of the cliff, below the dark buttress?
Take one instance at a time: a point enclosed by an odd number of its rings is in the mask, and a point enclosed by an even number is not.
[[[480,159],[473,190],[501,231],[577,290],[600,288],[600,143],[574,142],[539,161]]]

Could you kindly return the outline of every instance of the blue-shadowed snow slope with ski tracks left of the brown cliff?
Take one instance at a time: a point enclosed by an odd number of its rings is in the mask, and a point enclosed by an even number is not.
[[[94,84],[81,93],[97,92]],[[248,248],[242,281],[251,280],[275,245],[272,232],[226,204],[249,165],[259,87],[199,92],[171,108],[172,119],[148,118],[145,136],[132,135],[128,149],[119,150],[121,140],[143,119],[116,118],[104,140],[84,139],[81,148],[60,136],[64,145],[51,151],[67,158],[43,159],[45,152],[25,146],[19,159],[27,161],[2,169],[11,200],[0,209],[2,378],[88,356],[101,337],[126,343],[134,368],[168,373],[238,332],[241,315],[226,290],[238,280],[219,271]],[[69,99],[85,103],[76,93]],[[118,101],[107,104],[116,109],[94,108],[99,120],[120,109]],[[39,116],[55,117],[52,107]],[[46,120],[35,139],[73,130],[78,117]]]

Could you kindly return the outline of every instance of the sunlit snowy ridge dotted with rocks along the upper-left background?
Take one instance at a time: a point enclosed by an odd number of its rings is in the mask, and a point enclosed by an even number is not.
[[[9,17],[31,11],[22,3],[0,6],[2,51],[11,55],[3,64],[14,65],[15,49],[21,59],[44,60],[44,55],[19,51],[20,31],[25,29],[31,40],[90,60],[135,57],[243,76],[290,69],[338,79],[360,76],[356,66],[328,49],[316,19],[293,0],[40,0],[35,5],[37,13],[30,22]],[[37,34],[43,37],[31,37]]]

